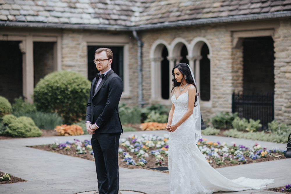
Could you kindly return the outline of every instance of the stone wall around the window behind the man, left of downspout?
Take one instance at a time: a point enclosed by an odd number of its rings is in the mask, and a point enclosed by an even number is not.
[[[83,76],[88,77],[88,58],[87,46],[94,45],[112,45],[116,43],[114,37],[116,35],[128,36],[129,42],[124,42],[129,45],[128,56],[124,56],[128,60],[129,69],[129,95],[122,97],[120,103],[125,103],[129,106],[136,106],[138,104],[138,74],[137,74],[137,43],[132,36],[131,32],[108,32],[108,31],[83,31],[83,30],[64,30],[62,35],[62,69],[68,71],[75,71],[81,73]],[[112,40],[106,42],[102,37],[110,37]],[[87,37],[87,39],[86,39]],[[97,37],[88,40],[88,37]],[[101,42],[98,42],[101,40]],[[118,41],[117,41],[118,42]],[[120,42],[116,44],[119,46]]]

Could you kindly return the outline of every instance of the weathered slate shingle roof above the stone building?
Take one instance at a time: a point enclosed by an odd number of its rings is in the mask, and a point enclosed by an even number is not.
[[[291,16],[291,0],[0,0],[0,24],[137,27],[262,15]],[[280,15],[281,14],[281,15]],[[4,22],[6,21],[6,22]],[[227,20],[225,20],[227,21]]]

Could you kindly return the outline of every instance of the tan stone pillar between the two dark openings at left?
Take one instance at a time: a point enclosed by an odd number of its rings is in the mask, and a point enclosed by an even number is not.
[[[33,103],[33,40],[32,36],[27,36],[25,40],[25,54],[23,55],[23,96],[24,99]]]

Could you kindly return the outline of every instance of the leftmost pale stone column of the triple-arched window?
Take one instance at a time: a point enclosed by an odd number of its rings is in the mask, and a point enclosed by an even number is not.
[[[161,61],[164,58],[151,58],[151,98],[152,100],[161,99]]]

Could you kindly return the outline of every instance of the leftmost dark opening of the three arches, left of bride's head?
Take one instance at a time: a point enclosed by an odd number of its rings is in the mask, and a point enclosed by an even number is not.
[[[161,82],[162,82],[162,98],[163,99],[169,99],[169,61],[167,59],[168,56],[168,50],[166,47],[164,47],[162,52],[162,57],[164,58],[161,62]]]

